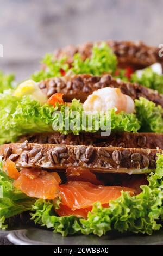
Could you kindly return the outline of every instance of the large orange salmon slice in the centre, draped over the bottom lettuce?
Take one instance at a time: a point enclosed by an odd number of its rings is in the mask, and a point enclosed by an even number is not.
[[[72,210],[85,209],[99,201],[108,204],[121,196],[121,191],[129,191],[134,195],[134,189],[121,186],[94,185],[84,181],[69,181],[59,187],[62,204]]]

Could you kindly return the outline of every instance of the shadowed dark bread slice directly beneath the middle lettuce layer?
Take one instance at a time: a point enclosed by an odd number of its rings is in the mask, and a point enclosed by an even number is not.
[[[74,135],[60,134],[59,132],[35,133],[22,136],[18,142],[64,145],[93,145],[95,147],[123,147],[123,148],[153,148],[163,149],[163,134],[158,133],[111,133],[102,137],[97,133],[80,133]]]

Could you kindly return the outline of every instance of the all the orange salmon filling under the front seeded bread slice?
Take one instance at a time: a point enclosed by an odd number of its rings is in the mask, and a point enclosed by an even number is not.
[[[75,215],[85,218],[95,202],[99,201],[105,207],[109,206],[110,200],[120,197],[122,190],[128,191],[131,196],[135,192],[133,188],[95,185],[86,181],[68,181],[60,185],[58,173],[23,168],[17,174],[16,167],[11,166],[11,162],[6,162],[5,171],[8,175],[15,176],[14,186],[27,196],[49,200],[61,198],[60,209],[57,210],[59,216]]]

